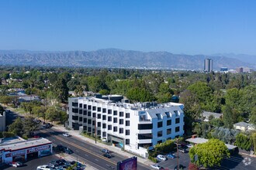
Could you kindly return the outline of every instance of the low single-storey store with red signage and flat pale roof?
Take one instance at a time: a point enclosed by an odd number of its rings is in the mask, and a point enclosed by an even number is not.
[[[2,162],[26,161],[52,154],[52,143],[45,138],[37,138],[29,141],[19,141],[0,145]],[[0,156],[1,158],[1,156]]]

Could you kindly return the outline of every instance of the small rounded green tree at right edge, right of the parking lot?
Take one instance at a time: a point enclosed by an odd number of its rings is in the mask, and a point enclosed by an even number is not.
[[[239,148],[249,151],[252,146],[252,138],[247,134],[237,134],[235,145],[237,145]]]

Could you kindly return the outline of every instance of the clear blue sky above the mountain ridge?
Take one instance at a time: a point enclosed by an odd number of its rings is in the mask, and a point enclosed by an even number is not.
[[[0,0],[0,49],[256,55],[254,0]]]

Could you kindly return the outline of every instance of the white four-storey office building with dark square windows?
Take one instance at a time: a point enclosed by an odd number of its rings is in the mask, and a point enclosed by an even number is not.
[[[69,98],[68,114],[69,128],[89,134],[96,129],[102,141],[136,153],[184,134],[183,104],[129,104],[123,96],[96,95]]]

